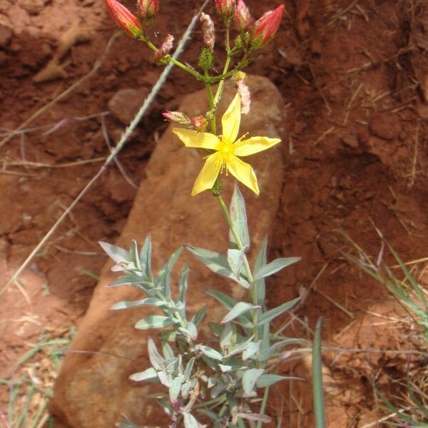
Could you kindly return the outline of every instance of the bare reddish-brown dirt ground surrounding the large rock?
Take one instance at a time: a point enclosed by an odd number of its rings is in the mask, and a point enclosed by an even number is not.
[[[199,4],[161,1],[159,37],[179,37]],[[248,4],[260,16],[280,1]],[[427,360],[402,352],[417,350],[412,323],[382,286],[347,263],[337,230],[376,258],[376,225],[405,261],[422,260],[411,266],[427,286],[428,6],[418,0],[290,0],[286,6],[275,42],[248,70],[280,88],[288,117],[287,173],[271,256],[302,256],[272,280],[270,300],[307,292],[289,323],[296,335],[310,339],[317,317],[325,319],[325,344],[333,348],[325,352],[327,426],[385,426],[372,424],[385,414],[372,383],[398,396],[399,379],[409,367],[422,376]],[[0,0],[1,136],[91,71],[113,31],[102,0]],[[184,61],[198,55],[200,39],[197,30]],[[218,64],[222,59],[219,54]],[[121,36],[96,73],[0,143],[0,285],[96,173],[108,155],[106,134],[113,141],[120,136],[118,116],[127,116],[126,107],[104,114],[108,101],[123,88],[143,99],[160,72],[144,46]],[[109,168],[21,281],[1,295],[2,382],[26,373],[42,400],[56,370],[46,363],[46,350],[16,362],[37,343],[78,327],[106,262],[96,242],[114,241],[126,221],[136,191],[128,181],[138,185],[144,177],[165,127],[160,113],[197,88],[180,71],[171,73],[119,156],[128,180]],[[304,367],[296,359],[280,370],[309,378]],[[282,414],[283,427],[312,426],[307,387],[292,384],[272,394],[269,412]],[[0,384],[0,419],[9,400],[7,384]]]

